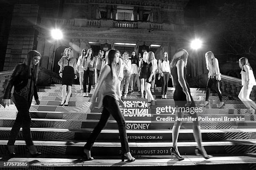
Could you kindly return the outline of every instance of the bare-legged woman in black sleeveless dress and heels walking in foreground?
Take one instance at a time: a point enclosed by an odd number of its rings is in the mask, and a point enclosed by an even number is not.
[[[170,64],[171,67],[171,75],[172,75],[172,83],[173,87],[175,88],[173,99],[175,101],[175,107],[181,107],[186,108],[189,107],[196,107],[195,102],[190,94],[189,85],[186,80],[187,75],[187,58],[188,53],[186,50],[181,49],[178,50],[172,59],[172,62]],[[195,141],[197,142],[198,147],[195,150],[196,155],[202,155],[205,159],[209,159],[212,156],[207,155],[205,148],[202,146],[202,135],[200,132],[200,124],[198,122],[198,115],[197,112],[190,113],[189,115],[191,117],[196,118],[195,121],[193,121],[193,134]],[[176,112],[176,117],[183,117],[184,112]],[[179,154],[178,147],[177,147],[177,140],[179,135],[179,128],[182,124],[182,121],[176,121],[174,122],[174,126],[172,128],[172,142],[173,146],[171,148],[171,153],[174,154],[174,156],[178,160],[184,160],[184,157],[182,157]]]

